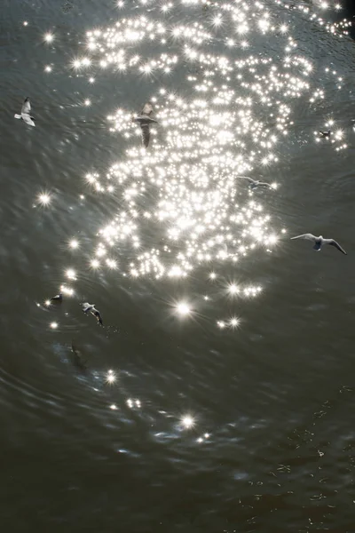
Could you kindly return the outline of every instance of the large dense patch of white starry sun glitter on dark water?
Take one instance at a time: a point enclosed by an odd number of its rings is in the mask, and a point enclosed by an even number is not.
[[[234,177],[277,162],[271,148],[293,123],[293,98],[321,97],[310,90],[307,76],[312,64],[294,52],[296,42],[286,35],[288,25],[273,23],[261,4],[256,4],[252,16],[243,3],[213,9],[212,19],[189,26],[168,25],[143,15],[123,18],[114,26],[88,31],[87,55],[75,60],[75,68],[96,68],[97,76],[98,67],[118,68],[122,73],[133,69],[138,76],[161,71],[163,76],[166,68],[171,71],[186,64],[190,97],[170,91],[169,86],[161,86],[150,96],[159,124],[152,128],[149,149],[139,146],[139,127],[131,122],[133,110],[120,107],[108,115],[108,122],[110,131],[128,141],[126,157],[104,175],[96,171],[86,176],[93,190],[124,200],[122,210],[99,230],[97,246],[113,254],[106,262],[108,267],[114,265],[117,244],[137,250],[135,259],[123,267],[133,277],[184,277],[205,262],[235,262],[257,245],[270,248],[277,243],[278,230],[269,226],[269,215],[259,214],[260,204],[252,203],[246,210],[235,203],[241,187]],[[208,44],[217,40],[214,31],[222,25],[231,35],[254,31],[283,38],[287,52],[283,64],[248,54],[235,60],[207,52]],[[162,36],[170,41],[171,52],[166,46],[152,57],[135,52],[138,44],[162,44]],[[267,115],[274,130],[256,118],[257,110],[265,106],[270,107]],[[255,148],[248,150],[250,143]],[[143,211],[148,195],[155,200]],[[146,247],[147,223],[163,245]],[[170,243],[177,251],[171,251]],[[104,265],[97,259],[93,262],[95,268]]]

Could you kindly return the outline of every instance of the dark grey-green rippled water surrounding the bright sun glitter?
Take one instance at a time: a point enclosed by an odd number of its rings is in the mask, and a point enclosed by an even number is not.
[[[224,279],[263,286],[255,301],[238,304],[241,328],[211,326],[236,305],[209,282],[210,266],[179,282],[83,267],[78,293],[97,302],[102,330],[82,316],[80,298],[50,310],[43,300],[67,267],[85,263],[84,253],[72,259],[67,239],[90,244],[116,207],[83,184],[91,167],[106,168],[123,149],[103,117],[117,105],[137,109],[156,81],[107,74],[89,86],[76,77],[68,65],[84,32],[120,13],[106,1],[77,0],[67,14],[61,7],[46,0],[2,8],[4,531],[354,531],[353,43],[282,12],[327,98],[312,112],[296,102],[279,162],[264,171],[281,186],[263,201],[288,228],[284,242],[237,272],[213,265]],[[49,48],[42,37],[50,30],[60,38]],[[43,66],[51,63],[49,75]],[[343,76],[341,91],[322,77],[326,67]],[[24,96],[36,129],[13,119]],[[79,106],[84,98],[94,104]],[[330,113],[346,132],[339,153],[313,142]],[[43,190],[55,201],[35,209]],[[304,231],[334,236],[348,256],[288,241]],[[167,302],[202,293],[216,295],[209,320],[167,316]],[[73,338],[88,357],[84,374],[70,360]],[[119,379],[106,386],[112,368]],[[140,410],[129,408],[130,398]],[[189,431],[178,426],[185,413],[196,420]],[[204,433],[209,439],[197,444]]]

